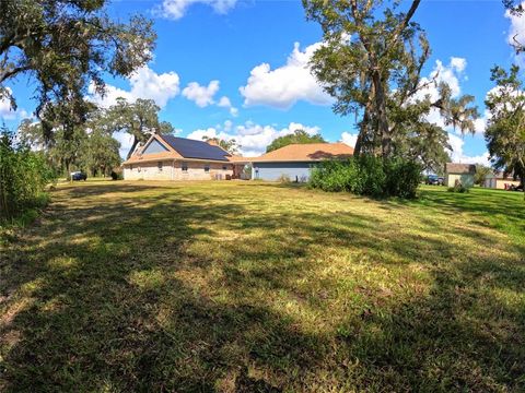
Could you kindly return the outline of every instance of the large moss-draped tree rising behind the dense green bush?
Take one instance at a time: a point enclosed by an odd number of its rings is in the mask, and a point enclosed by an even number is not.
[[[324,33],[312,71],[336,98],[335,112],[360,118],[355,155],[399,155],[395,146],[402,144],[396,139],[406,139],[407,128],[428,123],[433,108],[447,123],[474,132],[477,109],[466,108],[472,97],[451,100],[451,88],[438,83],[438,75],[422,82],[430,46],[412,21],[420,0],[410,1],[406,11],[399,11],[405,4],[400,1],[303,0],[303,4]],[[439,91],[438,99],[424,94],[431,85]]]

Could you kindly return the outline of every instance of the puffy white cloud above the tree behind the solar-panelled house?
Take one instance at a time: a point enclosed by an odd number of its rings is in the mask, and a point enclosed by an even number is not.
[[[95,93],[94,85],[91,84],[89,93],[93,102],[103,107],[114,105],[118,97],[126,98],[128,102],[135,102],[137,98],[153,99],[161,108],[165,107],[168,99],[179,93],[180,80],[176,72],[171,71],[158,74],[148,66],[137,70],[130,78],[129,91],[106,85],[104,97]]]

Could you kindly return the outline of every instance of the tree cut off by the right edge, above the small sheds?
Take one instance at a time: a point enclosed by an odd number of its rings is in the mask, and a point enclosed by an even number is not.
[[[491,70],[497,88],[488,94],[485,105],[491,117],[485,132],[490,160],[505,175],[525,181],[525,93],[520,80],[520,67],[510,71],[500,67]]]

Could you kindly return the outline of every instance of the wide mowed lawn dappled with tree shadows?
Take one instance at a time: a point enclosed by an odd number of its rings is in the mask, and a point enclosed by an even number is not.
[[[525,391],[521,193],[75,183],[0,247],[0,391]]]

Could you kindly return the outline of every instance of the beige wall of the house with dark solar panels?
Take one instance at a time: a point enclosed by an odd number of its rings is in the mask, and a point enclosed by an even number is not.
[[[183,171],[183,162],[163,162],[159,170],[158,162],[125,165],[124,178],[126,180],[213,180],[225,179],[226,175],[233,176],[233,165],[230,163],[185,162],[188,170]],[[210,166],[205,171],[206,165]],[[223,167],[225,166],[225,169]]]

